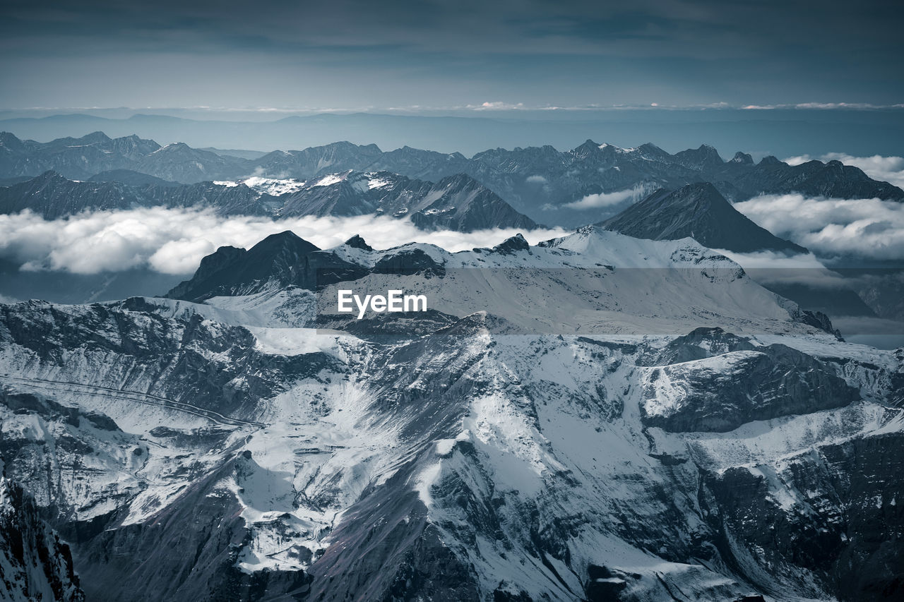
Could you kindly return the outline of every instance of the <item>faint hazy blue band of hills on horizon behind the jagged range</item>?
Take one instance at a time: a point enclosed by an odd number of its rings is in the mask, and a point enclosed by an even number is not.
[[[0,110],[0,131],[47,141],[103,131],[137,134],[160,142],[181,140],[216,149],[303,148],[335,140],[376,143],[382,148],[414,146],[473,155],[493,146],[549,144],[571,148],[586,138],[618,146],[645,140],[672,151],[707,142],[720,149],[745,148],[758,155],[901,155],[904,116],[898,109],[844,110],[465,110],[454,115],[306,114],[283,115],[212,109],[80,109],[75,114],[46,110]],[[92,114],[87,114],[92,113]],[[167,114],[168,113],[168,114]],[[225,151],[235,155],[234,152]],[[237,155],[240,156],[240,155]],[[253,158],[253,157],[250,157]]]

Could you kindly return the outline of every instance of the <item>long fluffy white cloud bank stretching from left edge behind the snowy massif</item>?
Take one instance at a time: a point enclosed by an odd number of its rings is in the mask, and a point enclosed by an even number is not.
[[[292,230],[321,249],[340,245],[354,234],[360,234],[375,249],[406,242],[429,242],[452,251],[492,246],[521,231],[428,232],[407,220],[372,215],[274,221],[151,207],[86,212],[48,221],[26,211],[0,215],[0,257],[19,263],[25,270],[97,274],[147,267],[165,274],[191,274],[202,257],[218,247],[232,245],[248,249],[283,230]],[[565,233],[561,229],[523,231],[532,243]]]

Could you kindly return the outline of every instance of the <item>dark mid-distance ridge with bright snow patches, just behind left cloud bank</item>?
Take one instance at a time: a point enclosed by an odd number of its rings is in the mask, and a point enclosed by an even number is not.
[[[240,182],[193,184],[157,181],[123,170],[105,174],[94,176],[89,182],[73,182],[55,172],[45,172],[25,182],[0,187],[0,212],[28,209],[45,219],[56,219],[82,211],[163,206],[212,208],[222,215],[274,218],[388,215],[410,219],[422,230],[537,227],[465,174],[449,176],[438,183],[388,172],[344,172],[305,182],[256,176]]]

